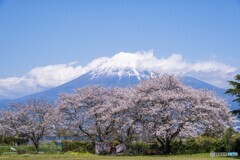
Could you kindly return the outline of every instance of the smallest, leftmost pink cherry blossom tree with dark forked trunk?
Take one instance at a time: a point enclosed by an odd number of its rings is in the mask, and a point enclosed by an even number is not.
[[[59,119],[52,103],[37,99],[12,104],[1,115],[2,129],[9,135],[28,138],[36,151],[39,151],[40,139],[53,134]]]

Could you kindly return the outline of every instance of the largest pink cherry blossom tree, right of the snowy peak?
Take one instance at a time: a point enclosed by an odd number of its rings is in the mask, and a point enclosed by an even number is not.
[[[230,125],[232,116],[224,100],[185,86],[173,75],[142,81],[134,89],[132,108],[137,114],[132,120],[138,119],[166,154],[176,137],[198,135],[207,129],[219,132]]]

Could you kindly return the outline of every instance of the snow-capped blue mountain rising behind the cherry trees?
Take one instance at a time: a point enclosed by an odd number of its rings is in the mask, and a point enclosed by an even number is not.
[[[147,65],[139,64],[144,57],[135,54],[120,53],[112,58],[102,60],[85,74],[60,86],[31,94],[13,100],[0,100],[0,108],[5,108],[10,103],[24,102],[27,99],[46,99],[56,101],[62,92],[72,93],[75,88],[89,85],[101,85],[103,87],[130,87],[138,84],[141,80],[157,76],[157,70],[149,69]],[[139,67],[140,66],[140,67]],[[219,97],[224,98],[231,109],[237,109],[233,103],[233,97],[225,95],[225,89],[210,85],[204,81],[190,76],[182,76],[181,81],[185,85],[196,89],[208,89],[214,91]]]

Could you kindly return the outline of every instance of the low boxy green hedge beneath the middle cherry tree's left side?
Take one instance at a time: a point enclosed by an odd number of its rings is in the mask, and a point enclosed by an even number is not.
[[[74,151],[81,153],[94,153],[95,148],[91,142],[72,142],[72,141],[62,141],[62,151]]]

